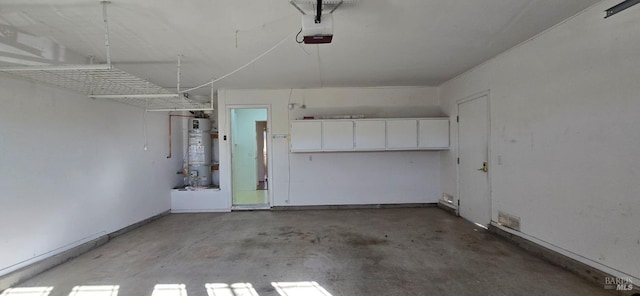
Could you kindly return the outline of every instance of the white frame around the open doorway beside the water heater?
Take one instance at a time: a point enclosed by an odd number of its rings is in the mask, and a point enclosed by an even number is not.
[[[226,120],[225,120],[225,124],[226,126],[228,126],[228,130],[227,130],[227,134],[229,139],[226,142],[226,146],[227,146],[227,151],[229,151],[229,153],[227,153],[227,161],[229,161],[229,192],[231,193],[229,198],[230,198],[230,205],[231,205],[231,209],[238,209],[235,208],[235,206],[233,205],[233,147],[231,146],[231,143],[233,142],[233,140],[231,139],[233,137],[233,132],[232,129],[233,127],[231,126],[231,110],[232,109],[267,109],[267,175],[270,178],[273,178],[273,148],[272,148],[272,137],[271,137],[271,104],[264,104],[264,105],[226,105],[227,110],[225,111],[225,115],[226,115]],[[270,184],[271,185],[271,184]],[[251,209],[271,209],[271,207],[273,206],[273,186],[269,186],[269,189],[267,189],[268,192],[268,198],[267,198],[267,203],[268,205],[266,207],[251,207]]]

